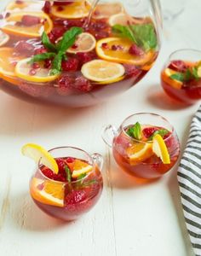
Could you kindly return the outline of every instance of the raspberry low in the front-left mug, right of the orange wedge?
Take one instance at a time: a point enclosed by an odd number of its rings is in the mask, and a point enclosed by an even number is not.
[[[65,197],[66,205],[76,205],[80,202],[83,202],[87,199],[87,193],[85,190],[72,190]]]

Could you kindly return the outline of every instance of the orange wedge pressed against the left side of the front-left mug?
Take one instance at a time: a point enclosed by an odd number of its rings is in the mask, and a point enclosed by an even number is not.
[[[64,206],[65,183],[33,177],[30,185],[32,198],[55,207]]]

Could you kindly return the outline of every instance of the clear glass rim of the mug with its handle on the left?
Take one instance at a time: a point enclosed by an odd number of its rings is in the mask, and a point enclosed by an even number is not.
[[[149,112],[141,112],[141,113],[133,113],[133,114],[131,114],[131,115],[129,115],[126,119],[124,119],[123,120],[123,122],[122,122],[122,124],[120,125],[120,129],[121,129],[121,131],[123,131],[123,134],[126,136],[126,137],[128,137],[129,139],[131,139],[132,141],[134,141],[134,142],[136,142],[136,143],[152,143],[152,141],[150,141],[150,142],[141,142],[141,141],[139,141],[139,140],[136,140],[135,138],[133,138],[133,137],[130,137],[126,132],[125,132],[125,130],[123,129],[125,126],[123,125],[127,120],[129,120],[130,118],[132,118],[132,117],[135,117],[135,116],[138,116],[138,115],[143,115],[143,114],[149,114],[149,115],[153,115],[153,116],[155,116],[155,117],[158,117],[158,118],[160,118],[160,119],[163,119],[169,126],[170,126],[170,134],[169,134],[169,137],[166,137],[165,139],[164,139],[164,142],[166,142],[167,140],[169,140],[169,138],[170,137],[172,137],[173,135],[174,135],[174,133],[175,133],[175,128],[173,127],[173,125],[171,125],[170,123],[169,123],[169,121],[168,121],[168,119],[165,119],[163,116],[161,116],[161,115],[159,115],[158,113],[149,113]],[[166,128],[165,128],[166,129]],[[168,129],[167,129],[168,130]],[[169,130],[168,130],[169,131]]]

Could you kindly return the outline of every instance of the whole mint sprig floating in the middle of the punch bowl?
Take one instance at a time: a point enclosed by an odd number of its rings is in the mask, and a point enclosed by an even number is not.
[[[66,60],[66,50],[72,47],[75,43],[78,35],[83,32],[83,29],[78,26],[73,26],[70,30],[64,33],[62,39],[57,44],[52,44],[49,40],[46,32],[43,32],[42,43],[46,49],[49,50],[47,53],[34,55],[30,63],[37,61],[45,61],[47,59],[53,59],[51,74],[59,74],[62,71],[61,62]]]

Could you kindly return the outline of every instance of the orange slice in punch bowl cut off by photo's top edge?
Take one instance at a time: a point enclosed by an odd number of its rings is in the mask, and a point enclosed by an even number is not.
[[[71,4],[53,5],[51,14],[63,19],[79,19],[89,15],[90,5],[87,1],[78,1]]]

